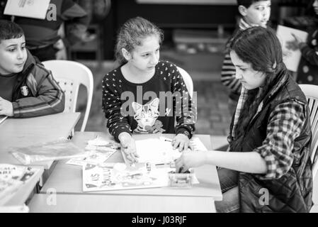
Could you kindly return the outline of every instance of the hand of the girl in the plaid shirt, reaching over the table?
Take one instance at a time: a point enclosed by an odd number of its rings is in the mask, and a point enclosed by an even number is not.
[[[187,150],[175,161],[176,172],[186,172],[191,167],[205,165],[206,150],[193,151]]]

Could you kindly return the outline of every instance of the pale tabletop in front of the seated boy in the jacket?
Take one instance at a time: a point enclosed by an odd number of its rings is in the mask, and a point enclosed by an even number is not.
[[[0,125],[0,162],[21,165],[8,153],[10,148],[22,148],[67,138],[79,121],[80,115],[80,113],[60,113],[34,118],[7,118]],[[34,162],[32,165],[49,170],[52,162]]]

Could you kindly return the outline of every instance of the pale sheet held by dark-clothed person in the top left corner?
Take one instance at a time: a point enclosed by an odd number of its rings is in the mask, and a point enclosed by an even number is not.
[[[50,0],[8,0],[4,14],[45,19]]]

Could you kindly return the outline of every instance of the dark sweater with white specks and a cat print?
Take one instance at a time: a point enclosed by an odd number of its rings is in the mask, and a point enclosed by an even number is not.
[[[159,61],[147,82],[127,81],[120,67],[103,77],[103,111],[109,132],[184,133],[195,131],[196,104],[176,65]]]

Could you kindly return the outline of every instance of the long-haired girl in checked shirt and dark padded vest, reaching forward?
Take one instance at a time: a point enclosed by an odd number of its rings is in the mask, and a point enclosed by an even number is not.
[[[256,48],[257,46],[257,48]],[[230,55],[242,83],[230,126],[229,152],[185,152],[176,171],[218,166],[218,212],[309,212],[311,130],[305,94],[288,74],[271,28],[237,33]]]

